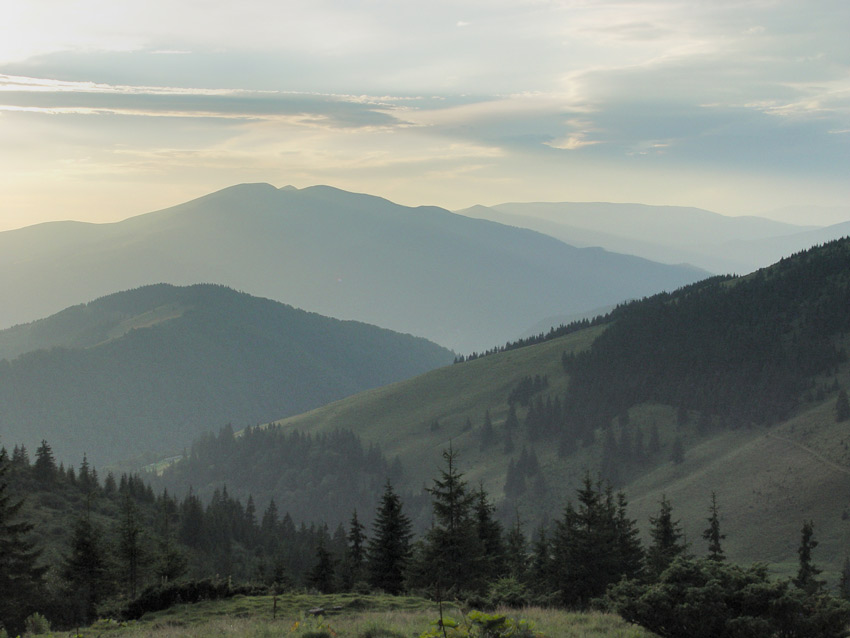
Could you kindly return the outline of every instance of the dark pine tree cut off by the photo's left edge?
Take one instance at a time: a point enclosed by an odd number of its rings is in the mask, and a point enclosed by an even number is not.
[[[46,567],[37,565],[41,550],[28,539],[32,523],[16,520],[24,502],[12,501],[8,471],[4,450],[0,456],[0,626],[14,636],[35,611]]]

